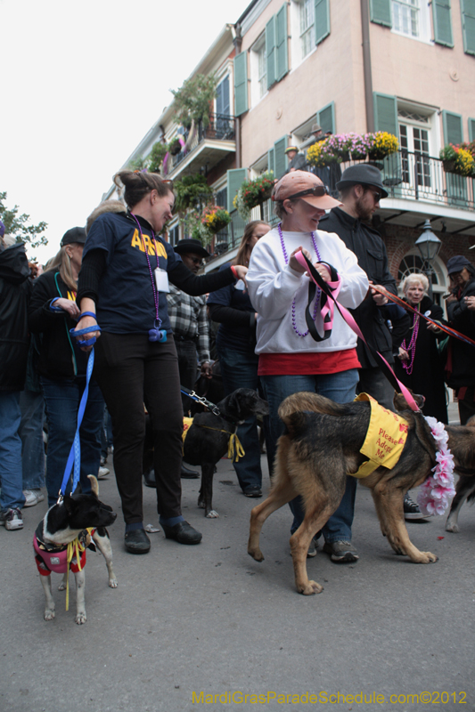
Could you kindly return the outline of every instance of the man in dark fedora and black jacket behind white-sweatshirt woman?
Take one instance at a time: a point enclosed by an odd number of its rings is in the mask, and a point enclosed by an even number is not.
[[[380,206],[381,198],[388,198],[381,171],[368,163],[349,166],[336,184],[340,191],[340,207],[332,208],[320,221],[322,230],[336,232],[345,245],[355,253],[359,266],[370,281],[370,291],[353,312],[356,323],[361,328],[366,341],[388,361],[394,363],[393,345],[397,348],[403,341],[405,332],[411,326],[407,314],[397,320],[397,332],[389,331],[389,314],[385,306],[389,303],[375,287],[384,287],[390,294],[397,295],[396,279],[389,271],[388,254],[379,232],[371,226],[373,214]],[[361,339],[356,347],[359,370],[357,392],[366,392],[382,406],[394,410],[394,388],[381,371],[372,353]],[[419,507],[408,495],[405,497],[405,514],[414,520],[420,514]],[[421,514],[422,517],[422,514]]]

